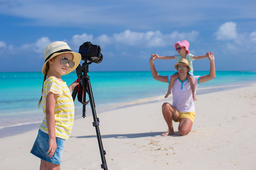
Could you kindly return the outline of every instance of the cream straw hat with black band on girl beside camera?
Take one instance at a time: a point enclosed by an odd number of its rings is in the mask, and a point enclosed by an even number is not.
[[[73,55],[72,61],[75,62],[75,66],[73,69],[68,69],[65,74],[70,73],[75,70],[78,64],[81,61],[81,54],[71,51],[70,47],[66,42],[56,41],[49,44],[44,50],[44,65],[42,68],[42,73],[45,74],[46,63],[56,55],[60,55],[62,53],[71,53]]]

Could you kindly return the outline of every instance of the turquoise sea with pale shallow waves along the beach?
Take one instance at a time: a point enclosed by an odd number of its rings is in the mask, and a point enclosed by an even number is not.
[[[160,75],[173,73],[159,71]],[[194,75],[208,73],[194,71]],[[89,72],[88,75],[97,114],[118,107],[161,100],[168,88],[167,83],[153,79],[150,71]],[[43,76],[41,72],[0,72],[0,129],[42,122],[42,106],[39,109],[37,104],[41,97]],[[67,85],[76,78],[76,72],[62,76]],[[251,83],[256,83],[256,71],[217,71],[215,79],[198,86],[197,94]],[[77,99],[75,110],[76,117],[81,117],[82,104]],[[86,106],[86,115],[91,115],[89,104]]]

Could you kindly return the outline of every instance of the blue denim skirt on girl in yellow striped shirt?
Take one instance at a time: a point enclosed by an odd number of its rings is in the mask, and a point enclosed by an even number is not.
[[[36,137],[36,141],[33,145],[33,148],[31,149],[30,153],[35,155],[36,157],[43,159],[47,162],[54,163],[54,164],[60,164],[61,158],[62,158],[62,152],[64,148],[64,140],[62,138],[56,137],[56,143],[57,148],[52,155],[52,158],[50,158],[47,153],[49,149],[49,135],[47,133],[44,133],[42,130],[38,130],[38,135]]]

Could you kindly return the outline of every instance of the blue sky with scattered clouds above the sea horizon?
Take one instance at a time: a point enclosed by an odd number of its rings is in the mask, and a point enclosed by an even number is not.
[[[103,61],[90,71],[149,71],[151,54],[176,55],[183,39],[194,55],[212,51],[216,70],[256,70],[255,0],[0,0],[0,23],[0,72],[41,71],[54,41],[76,52],[100,45]],[[155,63],[174,71],[176,61]],[[209,61],[193,66],[209,70]]]

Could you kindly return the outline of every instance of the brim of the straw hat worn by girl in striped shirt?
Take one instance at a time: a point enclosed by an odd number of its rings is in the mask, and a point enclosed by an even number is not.
[[[53,57],[55,57],[55,56],[57,56],[57,55],[63,54],[63,53],[71,53],[71,54],[73,55],[72,61],[75,62],[75,66],[74,66],[72,69],[69,68],[69,69],[66,71],[66,73],[65,73],[64,75],[66,75],[66,74],[72,72],[73,70],[75,70],[76,67],[78,66],[78,64],[79,64],[80,61],[81,61],[81,54],[76,53],[76,52],[73,52],[73,51],[67,51],[67,52],[61,52],[61,53],[54,53],[47,61],[45,61],[44,65],[43,65],[43,68],[42,68],[42,73],[45,74],[46,63],[47,63],[50,59],[52,59]]]

